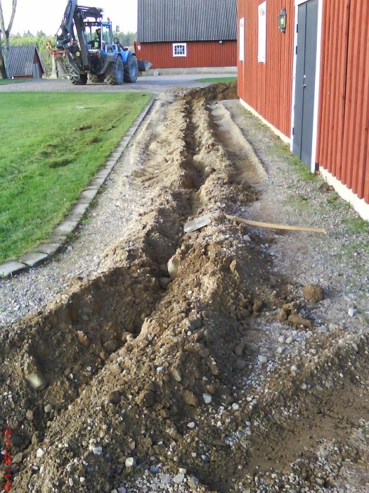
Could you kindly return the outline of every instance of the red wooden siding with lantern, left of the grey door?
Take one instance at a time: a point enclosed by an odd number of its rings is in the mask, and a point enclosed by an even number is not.
[[[238,19],[245,18],[245,61],[238,61],[238,96],[290,137],[294,2],[266,2],[266,63],[257,61],[259,4],[261,0],[238,0]],[[283,7],[287,11],[285,33],[280,32],[277,22],[278,13]],[[237,56],[239,59],[239,51]]]

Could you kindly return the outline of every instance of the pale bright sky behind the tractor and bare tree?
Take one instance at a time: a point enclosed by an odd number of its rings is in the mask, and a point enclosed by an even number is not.
[[[11,0],[1,0],[6,27],[11,16],[11,3]],[[78,4],[103,8],[104,20],[109,17],[113,29],[119,25],[122,32],[137,30],[137,0],[78,0]],[[18,0],[11,34],[30,30],[34,35],[37,31],[55,35],[66,6],[67,0]]]

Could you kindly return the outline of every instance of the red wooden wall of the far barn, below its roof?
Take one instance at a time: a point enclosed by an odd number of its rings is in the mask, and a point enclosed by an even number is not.
[[[139,58],[152,68],[235,67],[236,41],[188,42],[187,56],[173,56],[173,43],[139,43]]]

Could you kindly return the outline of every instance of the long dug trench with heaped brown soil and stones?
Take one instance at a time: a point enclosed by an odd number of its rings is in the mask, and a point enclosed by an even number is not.
[[[110,492],[151,466],[153,475],[186,468],[200,485],[182,486],[195,491],[334,486],[347,461],[365,461],[357,416],[367,341],[339,329],[337,344],[317,334],[294,367],[280,361],[250,389],[263,362],[259,325],[283,313],[283,323],[311,330],[309,304],[273,272],[255,230],[221,215],[183,233],[188,219],[256,200],[250,183],[264,175],[227,150],[228,117],[206,92],[159,109],[165,118],[131,177],[150,190],[134,237],[110,246],[93,280],[75,279],[44,311],[1,332],[0,420],[13,430],[14,487]],[[350,406],[339,407],[342,399]],[[318,451],[322,429],[335,442]]]

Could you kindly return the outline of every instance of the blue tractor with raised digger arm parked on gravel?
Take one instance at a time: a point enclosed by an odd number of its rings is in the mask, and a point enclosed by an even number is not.
[[[138,76],[136,54],[112,36],[112,23],[103,21],[103,9],[77,5],[68,0],[56,46],[65,58],[65,68],[74,85],[108,82],[110,85],[134,83]],[[143,63],[140,70],[150,64]]]

